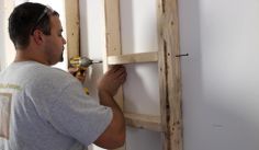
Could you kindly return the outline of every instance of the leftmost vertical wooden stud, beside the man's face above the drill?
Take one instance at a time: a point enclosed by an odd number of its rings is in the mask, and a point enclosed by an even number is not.
[[[79,33],[79,0],[65,0],[66,32],[67,32],[67,57],[80,55]]]

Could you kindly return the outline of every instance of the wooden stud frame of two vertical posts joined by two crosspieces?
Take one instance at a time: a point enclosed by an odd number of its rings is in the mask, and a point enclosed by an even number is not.
[[[158,0],[157,53],[121,55],[120,0],[105,0],[106,56],[105,65],[158,62],[160,89],[160,117],[127,114],[126,123],[133,127],[162,132],[162,150],[182,150],[181,76],[179,57],[178,1]],[[123,94],[117,97],[123,103]],[[125,149],[125,147],[124,147]]]

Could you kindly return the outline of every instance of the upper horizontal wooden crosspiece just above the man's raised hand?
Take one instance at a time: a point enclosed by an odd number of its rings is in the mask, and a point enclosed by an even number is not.
[[[123,64],[136,64],[136,62],[156,62],[158,61],[156,53],[140,53],[121,56],[109,56],[109,65],[123,65]]]

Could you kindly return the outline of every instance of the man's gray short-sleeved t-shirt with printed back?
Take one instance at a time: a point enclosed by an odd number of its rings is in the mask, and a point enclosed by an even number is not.
[[[0,150],[81,150],[111,119],[63,70],[23,61],[0,73]]]

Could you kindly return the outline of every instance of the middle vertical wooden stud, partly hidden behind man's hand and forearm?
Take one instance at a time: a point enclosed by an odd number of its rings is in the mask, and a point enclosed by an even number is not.
[[[105,30],[106,30],[106,51],[104,53],[103,68],[108,68],[108,56],[121,55],[121,28],[120,28],[120,1],[105,0]],[[120,88],[117,94],[114,96],[116,103],[123,109],[123,88]],[[125,150],[126,146],[116,149]]]

